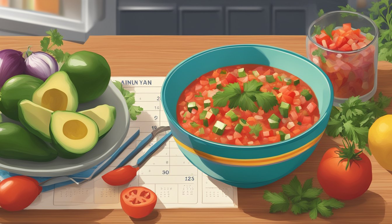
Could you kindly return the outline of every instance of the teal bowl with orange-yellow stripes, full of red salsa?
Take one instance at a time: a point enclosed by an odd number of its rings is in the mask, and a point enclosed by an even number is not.
[[[162,88],[181,152],[210,177],[241,188],[272,183],[309,158],[333,98],[328,76],[310,60],[256,44],[191,56]]]

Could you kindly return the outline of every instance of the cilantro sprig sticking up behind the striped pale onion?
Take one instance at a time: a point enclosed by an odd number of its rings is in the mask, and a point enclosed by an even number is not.
[[[64,36],[58,33],[57,29],[51,29],[49,31],[46,31],[46,33],[47,35],[49,35],[49,37],[45,36],[40,41],[41,51],[53,55],[53,57],[58,63],[66,62],[68,60],[68,57],[71,56],[71,54],[69,54],[68,52],[64,52],[62,49],[52,49],[53,46],[61,47],[64,44]]]

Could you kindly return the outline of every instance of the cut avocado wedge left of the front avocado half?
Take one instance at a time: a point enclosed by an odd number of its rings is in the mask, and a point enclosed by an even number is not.
[[[34,104],[30,100],[20,100],[18,114],[20,123],[34,135],[46,142],[52,142],[49,124],[53,111]]]

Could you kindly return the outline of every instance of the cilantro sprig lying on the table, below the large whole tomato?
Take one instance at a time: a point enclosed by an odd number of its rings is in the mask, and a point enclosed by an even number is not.
[[[271,203],[270,213],[286,212],[289,209],[295,215],[309,212],[310,219],[316,219],[320,214],[323,217],[333,215],[332,209],[343,208],[344,203],[331,199],[320,199],[323,192],[321,188],[313,187],[313,178],[301,185],[297,176],[289,184],[282,185],[283,191],[279,193],[264,191],[263,199]]]

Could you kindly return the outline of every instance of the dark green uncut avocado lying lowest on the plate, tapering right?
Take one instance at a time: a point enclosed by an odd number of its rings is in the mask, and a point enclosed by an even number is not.
[[[0,124],[0,142],[2,158],[48,162],[57,157],[56,150],[17,124]]]

